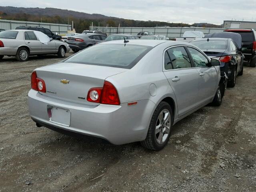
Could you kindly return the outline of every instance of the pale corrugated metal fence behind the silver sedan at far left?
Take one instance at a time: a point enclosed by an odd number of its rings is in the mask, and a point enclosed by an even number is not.
[[[58,32],[58,34],[67,34],[68,30],[71,30],[71,25],[55,24],[55,23],[40,23],[29,21],[14,21],[0,19],[0,29],[11,30],[18,26],[38,26],[50,29],[52,32]]]

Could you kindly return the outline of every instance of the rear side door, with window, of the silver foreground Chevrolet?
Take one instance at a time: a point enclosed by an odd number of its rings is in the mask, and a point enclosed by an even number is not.
[[[178,116],[196,108],[199,77],[184,46],[164,51],[164,74],[176,96]]]

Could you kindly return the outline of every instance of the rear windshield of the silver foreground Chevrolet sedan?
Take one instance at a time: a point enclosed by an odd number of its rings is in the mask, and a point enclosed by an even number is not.
[[[97,44],[74,54],[64,62],[130,69],[151,49],[150,46],[140,45]]]

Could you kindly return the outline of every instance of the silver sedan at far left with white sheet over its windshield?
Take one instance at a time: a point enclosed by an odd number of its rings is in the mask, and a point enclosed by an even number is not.
[[[0,59],[16,56],[18,61],[26,61],[30,55],[57,54],[64,58],[69,45],[52,40],[46,34],[34,30],[6,30],[0,32]]]

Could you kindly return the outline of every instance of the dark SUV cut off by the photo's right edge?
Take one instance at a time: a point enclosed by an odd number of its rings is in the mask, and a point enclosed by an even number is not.
[[[254,29],[226,29],[224,31],[239,33],[242,36],[242,53],[251,67],[256,67],[256,32]]]

